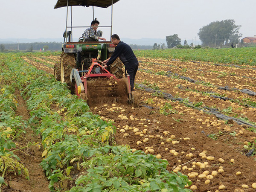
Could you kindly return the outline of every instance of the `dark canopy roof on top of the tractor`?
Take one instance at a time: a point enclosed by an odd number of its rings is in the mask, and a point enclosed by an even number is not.
[[[113,4],[116,3],[119,0],[113,0]],[[96,6],[96,7],[102,7],[107,8],[112,5],[112,0],[69,0],[68,6]],[[54,6],[54,9],[60,8],[60,7],[67,7],[67,0],[58,0],[56,5]]]

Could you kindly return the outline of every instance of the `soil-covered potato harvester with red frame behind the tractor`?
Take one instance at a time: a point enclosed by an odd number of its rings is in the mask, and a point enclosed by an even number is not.
[[[70,81],[75,79],[75,91],[79,98],[86,99],[88,105],[99,102],[132,103],[130,76],[118,79],[108,70],[102,69],[96,58],[88,70],[72,69]],[[80,75],[81,74],[81,75]]]

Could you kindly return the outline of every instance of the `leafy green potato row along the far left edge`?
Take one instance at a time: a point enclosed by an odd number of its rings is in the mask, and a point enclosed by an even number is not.
[[[6,69],[2,66],[0,68],[0,191],[2,185],[7,185],[4,180],[7,172],[22,174],[29,179],[28,170],[14,153],[20,150],[17,148],[18,141],[24,137],[26,125],[20,116],[15,115],[17,108],[15,88],[9,85],[4,70]]]

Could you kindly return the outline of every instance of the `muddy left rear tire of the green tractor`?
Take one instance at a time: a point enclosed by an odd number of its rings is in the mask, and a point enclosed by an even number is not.
[[[72,53],[64,53],[61,54],[61,62],[59,64],[55,64],[54,66],[54,74],[55,78],[62,83],[70,84],[70,73],[73,68],[76,68],[76,58]]]

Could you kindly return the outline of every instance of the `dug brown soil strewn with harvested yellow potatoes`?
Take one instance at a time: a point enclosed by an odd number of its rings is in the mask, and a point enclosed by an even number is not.
[[[136,83],[163,92],[135,90],[138,108],[116,103],[90,106],[102,119],[115,122],[116,143],[165,158],[168,170],[188,175],[197,192],[254,192],[256,160],[248,143],[256,139],[256,96],[241,90],[256,92],[256,70],[251,66],[139,60]],[[52,73],[43,64],[29,63]],[[221,89],[225,86],[226,90]],[[163,93],[181,98],[181,102],[164,99]],[[215,109],[253,126],[218,119],[186,104]]]

